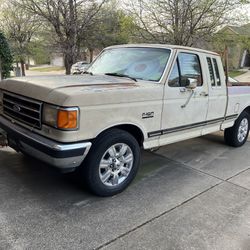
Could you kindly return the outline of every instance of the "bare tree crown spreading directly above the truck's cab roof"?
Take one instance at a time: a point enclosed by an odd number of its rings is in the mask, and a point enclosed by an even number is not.
[[[232,21],[240,0],[133,0],[128,10],[144,40],[192,46]]]

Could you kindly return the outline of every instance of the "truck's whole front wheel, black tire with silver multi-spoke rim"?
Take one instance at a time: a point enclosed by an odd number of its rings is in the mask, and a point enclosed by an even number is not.
[[[134,179],[140,164],[140,147],[126,131],[112,129],[98,137],[82,166],[81,175],[99,196],[122,192]]]

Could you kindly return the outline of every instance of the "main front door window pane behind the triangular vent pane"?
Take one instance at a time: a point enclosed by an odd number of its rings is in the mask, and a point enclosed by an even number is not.
[[[178,56],[181,71],[181,86],[186,86],[189,79],[196,79],[202,85],[201,65],[198,55],[180,53]]]

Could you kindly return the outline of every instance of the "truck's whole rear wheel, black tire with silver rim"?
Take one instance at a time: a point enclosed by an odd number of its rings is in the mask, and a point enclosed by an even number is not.
[[[240,147],[245,144],[249,134],[249,125],[249,114],[243,111],[235,121],[234,126],[225,130],[225,142],[233,147]]]

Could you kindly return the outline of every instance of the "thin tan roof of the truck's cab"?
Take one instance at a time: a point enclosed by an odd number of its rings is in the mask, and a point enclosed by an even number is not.
[[[219,55],[216,52],[209,51],[209,50],[203,50],[199,48],[193,48],[193,47],[186,47],[186,46],[180,46],[180,45],[170,45],[170,44],[148,44],[148,43],[138,43],[138,44],[122,44],[122,45],[114,45],[110,46],[109,48],[133,48],[133,47],[148,47],[148,48],[164,48],[164,49],[181,49],[181,50],[188,50],[188,51],[197,51],[201,53],[207,53],[207,54],[213,54],[213,55]]]

